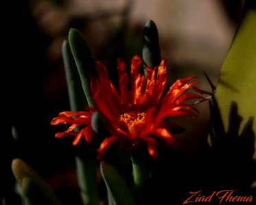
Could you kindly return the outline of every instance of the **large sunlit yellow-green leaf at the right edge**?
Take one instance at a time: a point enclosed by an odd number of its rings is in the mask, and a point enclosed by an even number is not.
[[[216,100],[220,108],[225,131],[229,128],[231,102],[235,102],[242,115],[239,133],[249,118],[256,118],[256,1],[244,1],[243,13],[229,52],[220,72]],[[256,132],[256,124],[253,124]],[[250,137],[250,136],[248,136]],[[255,137],[255,136],[254,136]],[[256,159],[256,152],[254,152]]]

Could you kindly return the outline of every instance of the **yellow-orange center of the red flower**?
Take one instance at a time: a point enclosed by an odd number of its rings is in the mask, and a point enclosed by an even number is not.
[[[144,112],[130,111],[128,113],[124,113],[120,115],[119,120],[125,122],[128,125],[130,133],[135,133],[135,126],[137,124],[143,124],[145,122]]]

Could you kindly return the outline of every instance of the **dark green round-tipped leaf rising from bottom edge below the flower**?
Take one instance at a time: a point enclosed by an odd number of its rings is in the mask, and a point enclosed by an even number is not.
[[[100,172],[106,183],[109,195],[112,197],[113,204],[135,205],[132,192],[128,188],[124,178],[113,165],[102,161],[100,164]]]

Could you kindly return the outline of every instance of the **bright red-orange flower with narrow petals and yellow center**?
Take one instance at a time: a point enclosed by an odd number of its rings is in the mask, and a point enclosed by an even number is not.
[[[86,107],[85,111],[65,111],[51,121],[51,124],[71,124],[67,131],[56,133],[56,137],[75,135],[73,144],[81,137],[91,142],[93,129],[91,118],[94,111],[99,111],[108,127],[109,135],[104,137],[98,148],[98,158],[103,159],[114,143],[130,152],[141,143],[146,143],[148,153],[157,158],[157,138],[165,141],[167,146],[174,147],[175,141],[170,131],[167,117],[197,115],[198,110],[187,100],[202,98],[199,94],[187,92],[197,81],[196,77],[178,79],[167,89],[167,68],[165,59],[155,68],[146,68],[147,77],[141,74],[141,57],[132,59],[130,76],[121,59],[117,60],[118,89],[108,78],[105,66],[97,61],[97,74],[91,74],[91,94],[95,108]],[[73,128],[84,126],[78,133]]]

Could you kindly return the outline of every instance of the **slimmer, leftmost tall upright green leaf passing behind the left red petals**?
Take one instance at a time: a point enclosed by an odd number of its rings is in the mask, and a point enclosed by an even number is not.
[[[75,34],[70,34],[73,42],[76,42],[76,38],[82,38],[80,34],[76,33],[78,31],[73,31]],[[71,31],[72,33],[72,31]],[[72,36],[75,35],[75,36]],[[69,42],[64,41],[62,44],[62,55],[65,66],[65,74],[67,79],[67,87],[69,92],[69,102],[72,111],[80,111],[84,109],[86,105],[86,97],[83,94],[82,88],[82,78],[80,79],[80,74],[78,72],[77,66],[75,64],[75,59],[73,57],[71,47]],[[77,60],[78,61],[78,60]],[[86,64],[86,63],[84,63]],[[86,66],[86,65],[84,65]],[[87,65],[88,66],[88,65]],[[87,75],[86,75],[87,77]],[[86,79],[85,83],[89,83]],[[88,87],[86,87],[87,89]],[[88,88],[89,89],[89,88]],[[88,96],[89,90],[86,91]],[[89,95],[90,98],[90,95]],[[89,99],[87,98],[87,100]],[[84,156],[78,152],[75,156],[75,165],[78,174],[78,184],[80,187],[80,194],[82,197],[82,202],[84,204],[99,204],[100,196],[97,189],[97,177],[96,177],[96,163],[93,159],[93,154],[87,152]]]

